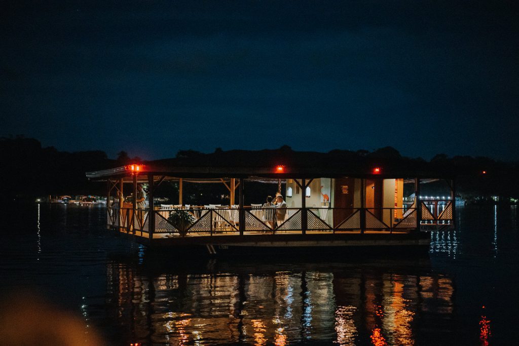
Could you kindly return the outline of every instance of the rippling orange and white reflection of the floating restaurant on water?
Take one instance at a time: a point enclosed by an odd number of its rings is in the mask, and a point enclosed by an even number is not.
[[[213,260],[200,267],[219,265]],[[399,272],[390,265],[387,271],[303,265],[258,274],[251,274],[257,268],[223,265],[226,271],[152,274],[111,262],[109,320],[126,329],[121,335],[144,344],[413,345],[419,343],[417,328],[423,325],[420,334],[429,337],[431,323],[453,315],[454,288],[447,276]]]

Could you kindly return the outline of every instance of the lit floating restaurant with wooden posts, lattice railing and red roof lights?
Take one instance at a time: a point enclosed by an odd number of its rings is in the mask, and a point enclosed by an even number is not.
[[[430,234],[455,225],[451,172],[402,157],[277,150],[230,150],[86,173],[107,184],[107,227],[135,242],[209,254],[348,248],[427,248]],[[158,204],[161,184],[178,184],[178,203]],[[250,203],[248,183],[277,184],[276,205]],[[445,182],[446,196],[421,196]],[[123,188],[147,184],[148,203],[125,202]],[[184,184],[223,184],[228,205],[183,204]],[[250,186],[252,186],[251,184]],[[281,191],[281,187],[284,186]],[[175,197],[176,200],[176,197]],[[262,202],[262,203],[260,203]],[[140,204],[140,205],[139,205]]]

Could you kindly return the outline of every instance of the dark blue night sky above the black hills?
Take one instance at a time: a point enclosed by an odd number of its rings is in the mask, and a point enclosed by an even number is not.
[[[513,3],[4,1],[0,136],[517,160]]]

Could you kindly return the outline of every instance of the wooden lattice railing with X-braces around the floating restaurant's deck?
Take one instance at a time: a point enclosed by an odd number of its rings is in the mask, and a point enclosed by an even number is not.
[[[154,210],[153,231],[150,211],[108,207],[110,228],[145,238],[184,236],[225,236],[249,234],[344,233],[365,231],[409,232],[420,225],[453,223],[452,205],[432,209],[421,202],[420,209],[404,208],[332,208],[310,207],[286,209],[251,209],[250,207],[220,209],[158,209]],[[182,213],[179,217],[170,217]],[[419,213],[421,213],[421,217]],[[240,217],[242,214],[242,217]],[[187,216],[186,216],[187,215]],[[181,216],[181,215],[179,215]],[[240,219],[243,225],[240,227]]]

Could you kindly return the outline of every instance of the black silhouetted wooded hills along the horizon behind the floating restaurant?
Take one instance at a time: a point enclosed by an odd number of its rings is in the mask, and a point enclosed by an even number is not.
[[[239,156],[241,164],[253,164],[255,160],[279,160],[304,162],[306,157],[321,158],[320,164],[334,164],[346,160],[352,165],[377,162],[386,169],[416,168],[438,170],[457,176],[457,192],[464,196],[519,197],[517,162],[502,162],[486,157],[455,156],[439,154],[430,161],[421,158],[406,158],[397,149],[385,147],[373,152],[367,150],[331,150],[329,153],[293,151],[289,146],[275,150],[228,150],[217,148],[214,153],[203,154],[195,150],[180,150],[176,158],[155,160],[154,163],[174,161],[192,164],[204,161],[210,165],[232,164]],[[24,137],[0,139],[0,176],[4,183],[2,200],[28,199],[48,195],[104,195],[105,184],[90,182],[87,171],[119,167],[139,158],[128,157],[121,151],[117,159],[107,158],[104,151],[79,151],[67,153],[54,147],[42,148],[39,141]],[[290,164],[290,162],[287,162]],[[319,162],[308,162],[319,164]],[[343,162],[344,164],[344,162]],[[486,173],[483,174],[483,171]],[[213,185],[213,184],[210,184]],[[218,192],[220,193],[220,192]]]

